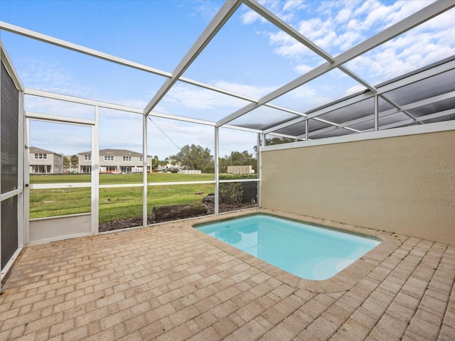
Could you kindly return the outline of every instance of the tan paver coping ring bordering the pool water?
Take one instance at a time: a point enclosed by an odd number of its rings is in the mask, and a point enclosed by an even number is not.
[[[206,224],[210,222],[217,222],[220,220],[228,220],[232,218],[256,214],[272,215],[287,220],[296,220],[309,224],[322,225],[323,227],[328,227],[329,229],[336,229],[343,232],[373,237],[380,240],[381,242],[374,249],[371,249],[359,259],[354,261],[352,264],[347,266],[345,269],[338,272],[338,274],[335,274],[328,279],[314,281],[290,274],[287,271],[277,268],[277,266],[273,266],[272,264],[268,264],[261,259],[257,259],[255,256],[247,254],[245,251],[241,251],[235,247],[230,246],[229,244],[226,244],[225,242],[221,242],[218,239],[210,237],[208,234],[200,232],[194,227],[198,224]],[[353,286],[355,286],[355,284],[358,283],[361,279],[365,278],[365,276],[373,271],[373,269],[375,269],[382,261],[387,258],[387,256],[390,256],[390,254],[392,254],[402,244],[401,240],[397,238],[399,237],[397,234],[391,234],[389,232],[378,231],[375,229],[368,229],[365,227],[331,222],[314,217],[307,217],[304,215],[296,215],[294,213],[274,211],[263,208],[241,212],[229,212],[218,216],[200,217],[194,220],[181,222],[181,228],[187,232],[190,232],[191,234],[197,234],[199,238],[204,239],[205,242],[213,245],[213,247],[222,249],[231,256],[235,256],[235,258],[244,261],[250,266],[257,268],[259,271],[262,271],[265,274],[268,274],[269,276],[282,281],[283,283],[287,283],[289,286],[305,289],[307,291],[315,293],[337,293],[340,291],[348,291],[350,288],[353,288]]]

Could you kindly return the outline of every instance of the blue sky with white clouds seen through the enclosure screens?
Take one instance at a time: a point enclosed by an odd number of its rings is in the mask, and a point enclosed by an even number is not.
[[[259,1],[269,11],[336,56],[432,1]],[[0,21],[172,72],[224,1],[4,1]],[[455,53],[451,9],[346,66],[377,85]],[[0,32],[21,82],[31,89],[144,109],[165,78],[70,50]],[[241,5],[183,76],[260,98],[325,60]],[[305,112],[364,90],[339,70],[274,99]],[[177,82],[154,111],[218,121],[249,102]],[[93,119],[93,107],[26,97],[26,110]],[[271,124],[289,114],[259,108],[232,124]],[[160,159],[186,144],[214,151],[213,126],[151,117],[148,153]],[[31,145],[71,155],[90,150],[90,129],[31,121]],[[220,129],[220,156],[249,151],[257,134]],[[100,109],[100,148],[141,152],[141,115]]]

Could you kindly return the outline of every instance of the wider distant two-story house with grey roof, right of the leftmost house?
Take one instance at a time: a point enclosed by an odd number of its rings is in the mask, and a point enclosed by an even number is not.
[[[78,153],[79,173],[91,173],[92,152]],[[100,149],[100,173],[140,173],[142,154],[126,149]],[[147,173],[151,170],[151,156],[147,156]]]

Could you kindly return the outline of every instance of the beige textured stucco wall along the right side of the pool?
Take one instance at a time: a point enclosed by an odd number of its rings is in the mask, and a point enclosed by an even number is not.
[[[455,131],[262,152],[262,207],[455,244]]]

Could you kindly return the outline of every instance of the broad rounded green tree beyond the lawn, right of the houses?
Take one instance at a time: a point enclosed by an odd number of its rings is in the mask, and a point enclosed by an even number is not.
[[[186,169],[198,169],[203,173],[213,172],[213,156],[210,155],[210,149],[202,146],[183,146],[176,155],[169,156],[176,163],[180,163]]]

